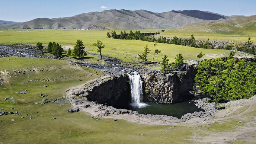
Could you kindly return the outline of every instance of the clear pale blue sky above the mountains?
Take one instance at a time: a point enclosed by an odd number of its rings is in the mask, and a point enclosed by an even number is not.
[[[256,15],[256,0],[0,0],[0,20],[25,22],[39,17],[74,16],[107,9],[152,12],[196,9],[248,16]]]

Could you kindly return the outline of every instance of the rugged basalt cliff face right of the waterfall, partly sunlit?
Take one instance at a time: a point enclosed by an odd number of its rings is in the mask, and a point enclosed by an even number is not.
[[[154,103],[176,103],[192,97],[196,70],[194,65],[187,65],[184,71],[168,74],[160,72],[144,73],[144,101]]]

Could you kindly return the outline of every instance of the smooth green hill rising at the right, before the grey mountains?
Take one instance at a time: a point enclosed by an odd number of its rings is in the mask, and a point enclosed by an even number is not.
[[[226,20],[208,20],[205,22],[183,26],[175,29],[176,32],[213,32],[213,33],[232,33],[238,35],[255,34],[255,16],[237,16]]]

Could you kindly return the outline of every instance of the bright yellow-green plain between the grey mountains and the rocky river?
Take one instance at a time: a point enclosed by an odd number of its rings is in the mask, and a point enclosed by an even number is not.
[[[111,30],[112,31],[112,30]],[[156,32],[157,30],[144,30],[142,32]],[[73,46],[77,39],[84,42],[87,50],[90,53],[98,54],[93,43],[100,40],[105,45],[102,49],[103,55],[115,57],[123,61],[134,62],[138,61],[137,54],[141,54],[144,46],[148,44],[151,49],[149,60],[153,58],[153,42],[137,41],[137,40],[120,40],[107,38],[108,31],[82,31],[82,30],[36,30],[29,29],[27,32],[20,32],[18,30],[0,30],[0,44],[15,44],[25,43],[33,44],[36,42],[43,42],[45,46],[50,41],[58,42],[61,45]],[[120,31],[117,31],[119,33]],[[129,32],[127,30],[127,32]],[[211,58],[211,54],[224,54],[227,55],[227,50],[220,49],[201,49],[193,47],[185,47],[181,45],[171,44],[157,44],[157,49],[161,50],[160,54],[156,54],[156,61],[161,61],[163,55],[169,56],[170,62],[174,61],[176,54],[181,53],[186,60],[196,60],[196,55],[201,51],[205,54],[203,58]]]

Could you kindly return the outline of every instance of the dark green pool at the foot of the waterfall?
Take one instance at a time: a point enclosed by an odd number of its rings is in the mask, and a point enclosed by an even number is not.
[[[129,109],[133,111],[138,111],[139,113],[147,113],[147,114],[154,114],[154,115],[169,115],[175,116],[177,118],[181,118],[182,115],[186,113],[193,113],[204,111],[200,108],[197,108],[193,100],[180,102],[180,103],[173,103],[173,104],[158,104],[158,103],[151,103],[147,102],[147,104],[143,108],[129,106]]]

